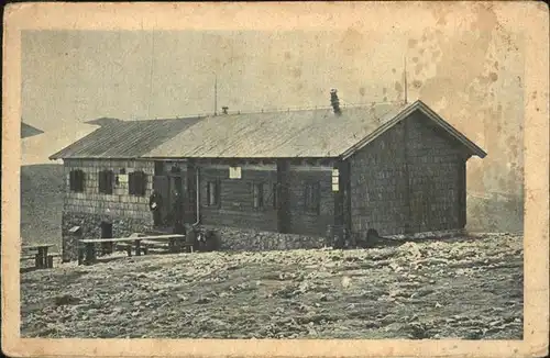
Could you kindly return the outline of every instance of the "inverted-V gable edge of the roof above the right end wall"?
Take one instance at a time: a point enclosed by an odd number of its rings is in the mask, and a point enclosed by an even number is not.
[[[387,121],[383,125],[381,125],[376,131],[358,142],[355,145],[350,147],[348,150],[345,150],[342,155],[342,159],[348,159],[351,157],[355,152],[360,150],[367,144],[372,143],[374,139],[376,139],[378,136],[384,134],[386,131],[392,128],[394,125],[399,123],[400,121],[405,120],[408,118],[410,114],[413,114],[416,111],[420,111],[426,116],[435,122],[437,125],[439,125],[441,128],[443,128],[447,133],[449,133],[452,137],[457,138],[460,143],[462,143],[471,153],[471,155],[475,155],[480,158],[484,158],[487,154],[480,148],[475,143],[470,141],[464,134],[460,133],[457,128],[454,128],[451,124],[449,124],[447,121],[444,121],[439,114],[433,112],[426,103],[424,103],[420,100],[417,100],[413,102],[410,105],[407,105],[396,116],[394,116],[392,120]]]

